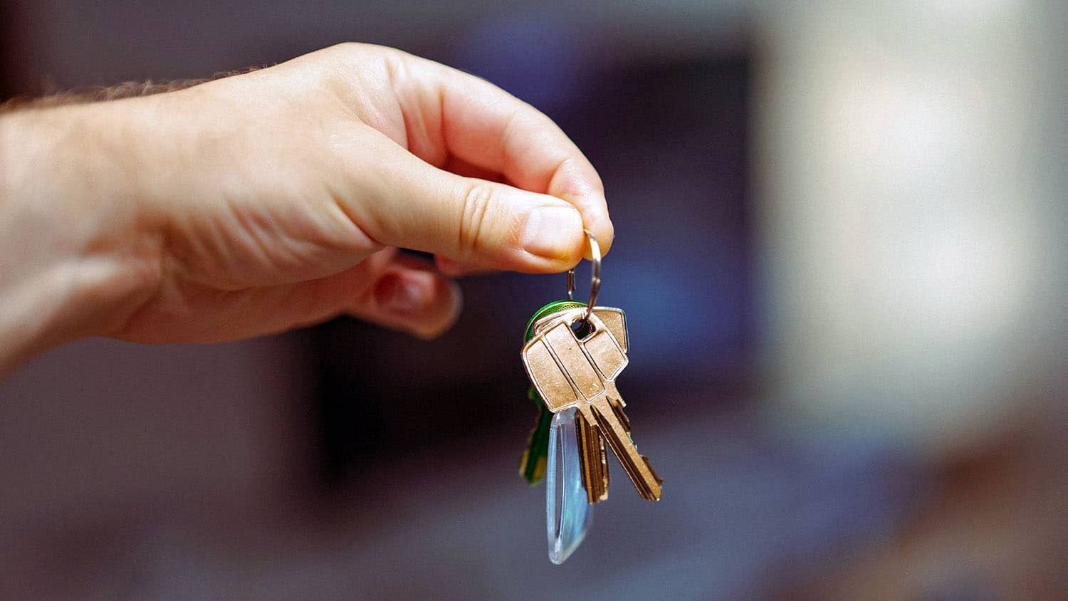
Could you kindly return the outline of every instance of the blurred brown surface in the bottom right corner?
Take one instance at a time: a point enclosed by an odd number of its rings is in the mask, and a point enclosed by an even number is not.
[[[788,599],[1063,599],[1068,591],[1068,436],[1063,410],[1030,399],[998,434],[929,466],[927,501],[889,540],[796,573]],[[790,570],[786,570],[789,573]]]

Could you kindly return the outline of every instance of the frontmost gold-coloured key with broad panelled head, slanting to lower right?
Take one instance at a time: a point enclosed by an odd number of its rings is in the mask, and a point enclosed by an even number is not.
[[[627,366],[627,353],[591,309],[563,311],[538,325],[540,331],[522,350],[527,375],[549,411],[576,408],[585,424],[608,441],[642,499],[658,501],[663,480],[638,453],[623,412],[626,404],[615,388],[616,377]],[[588,332],[581,338],[572,329],[580,322]],[[596,474],[591,477],[596,481]]]

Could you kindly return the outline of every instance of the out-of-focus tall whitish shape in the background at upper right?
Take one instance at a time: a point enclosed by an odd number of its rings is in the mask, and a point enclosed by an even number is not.
[[[759,13],[765,366],[784,424],[936,444],[1062,394],[1061,5]]]

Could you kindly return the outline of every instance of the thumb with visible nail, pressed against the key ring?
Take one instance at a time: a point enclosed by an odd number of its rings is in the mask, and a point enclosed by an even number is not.
[[[582,217],[565,201],[461,177],[399,147],[373,169],[371,197],[351,208],[382,244],[525,272],[564,271],[582,258]]]

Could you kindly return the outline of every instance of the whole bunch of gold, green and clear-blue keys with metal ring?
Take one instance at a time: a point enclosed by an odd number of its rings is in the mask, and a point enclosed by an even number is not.
[[[600,249],[586,232],[593,257],[590,302],[574,301],[575,270],[567,273],[566,301],[538,310],[527,326],[523,366],[539,401],[537,425],[520,462],[536,483],[544,475],[549,559],[561,564],[590,526],[592,505],[608,499],[606,442],[646,501],[658,501],[663,480],[638,453],[626,405],[615,379],[627,366],[626,316],[595,306],[600,287]]]

